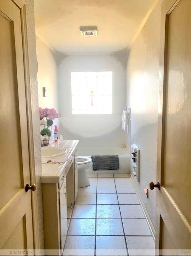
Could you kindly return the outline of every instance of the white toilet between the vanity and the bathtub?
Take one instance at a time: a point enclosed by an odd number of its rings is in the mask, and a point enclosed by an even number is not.
[[[92,166],[92,159],[87,156],[78,156],[76,163],[78,165],[78,188],[90,186],[87,169]]]

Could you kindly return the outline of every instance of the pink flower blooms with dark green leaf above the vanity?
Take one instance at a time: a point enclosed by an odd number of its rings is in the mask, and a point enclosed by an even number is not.
[[[53,120],[58,118],[58,113],[56,112],[55,109],[42,109],[41,107],[39,107],[39,115],[40,115],[40,124],[44,124],[44,128],[45,125],[46,126],[51,126],[53,124]],[[44,118],[46,118],[44,120]]]

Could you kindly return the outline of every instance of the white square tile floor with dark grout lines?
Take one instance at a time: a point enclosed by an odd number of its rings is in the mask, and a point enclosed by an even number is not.
[[[78,189],[72,214],[68,211],[63,255],[154,255],[155,243],[129,175],[88,176],[91,185]]]

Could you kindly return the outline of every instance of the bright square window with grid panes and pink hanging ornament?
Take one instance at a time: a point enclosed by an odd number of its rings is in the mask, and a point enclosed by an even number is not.
[[[71,114],[113,115],[114,69],[70,70]]]

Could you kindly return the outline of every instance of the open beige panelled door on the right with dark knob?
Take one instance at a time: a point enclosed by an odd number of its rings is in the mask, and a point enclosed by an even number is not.
[[[156,180],[160,183],[160,190],[156,188],[156,249],[164,251],[160,251],[159,255],[191,255],[190,40],[191,1],[163,1]],[[170,249],[174,251],[168,251]]]

